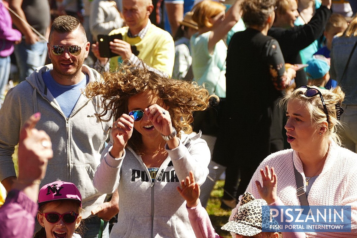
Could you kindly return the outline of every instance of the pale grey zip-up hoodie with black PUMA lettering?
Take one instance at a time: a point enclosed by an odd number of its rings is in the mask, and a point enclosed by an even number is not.
[[[94,186],[101,192],[118,189],[119,214],[110,237],[115,238],[192,238],[195,233],[188,219],[186,201],[177,192],[180,181],[192,171],[202,184],[208,174],[210,149],[201,133],[181,135],[180,145],[161,164],[155,181],[141,156],[129,146],[121,158],[113,158],[111,142],[102,153],[94,176]]]

